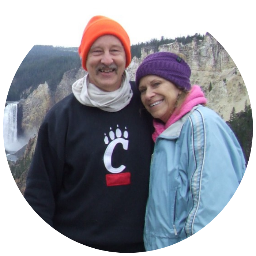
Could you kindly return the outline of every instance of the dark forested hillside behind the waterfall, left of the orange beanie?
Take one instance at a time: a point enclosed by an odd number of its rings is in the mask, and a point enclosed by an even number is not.
[[[65,72],[80,66],[80,58],[73,48],[35,45],[20,63],[6,101],[18,101],[45,82],[54,91]]]

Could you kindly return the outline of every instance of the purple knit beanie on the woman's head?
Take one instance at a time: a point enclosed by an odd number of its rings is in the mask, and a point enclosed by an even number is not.
[[[170,52],[157,52],[148,55],[136,71],[136,86],[146,75],[156,75],[169,80],[184,91],[191,89],[189,65],[178,55]]]

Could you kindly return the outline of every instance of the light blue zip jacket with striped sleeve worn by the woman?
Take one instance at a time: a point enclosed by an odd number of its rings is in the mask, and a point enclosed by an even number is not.
[[[217,113],[196,106],[158,136],[144,244],[153,251],[201,230],[229,203],[245,173],[242,149]]]

